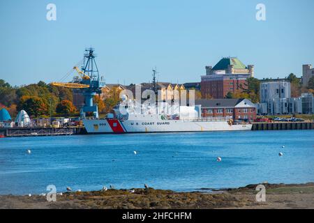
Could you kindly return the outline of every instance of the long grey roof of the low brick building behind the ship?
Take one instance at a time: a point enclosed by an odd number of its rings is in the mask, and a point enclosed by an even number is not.
[[[221,99],[200,99],[195,100],[195,105],[202,105],[202,107],[235,107],[244,98],[221,98]]]

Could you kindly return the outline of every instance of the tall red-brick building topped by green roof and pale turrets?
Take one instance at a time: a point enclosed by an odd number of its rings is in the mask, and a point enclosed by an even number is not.
[[[229,92],[245,89],[246,79],[253,76],[253,65],[245,66],[236,57],[225,57],[214,68],[206,66],[206,75],[201,76],[202,98],[225,98]]]

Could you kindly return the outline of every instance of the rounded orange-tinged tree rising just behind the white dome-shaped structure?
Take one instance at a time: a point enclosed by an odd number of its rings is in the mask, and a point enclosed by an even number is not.
[[[33,117],[47,114],[47,105],[37,96],[22,96],[19,105],[17,105],[17,110],[20,111],[22,109],[24,109],[29,116]]]

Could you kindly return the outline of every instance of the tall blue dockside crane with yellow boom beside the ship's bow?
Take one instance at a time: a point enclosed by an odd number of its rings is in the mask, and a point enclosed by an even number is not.
[[[97,93],[101,93],[101,89],[105,86],[105,82],[99,77],[94,50],[94,48],[85,49],[82,70],[77,68],[77,66],[73,68],[82,78],[79,83],[52,82],[53,86],[75,89],[75,91],[79,91],[84,95],[84,107],[82,107],[80,112],[81,118],[85,118],[86,112],[93,112],[94,117],[98,118],[98,107],[94,105],[93,98]]]

